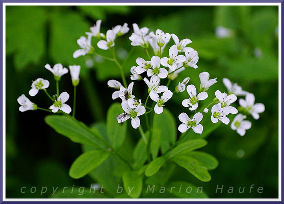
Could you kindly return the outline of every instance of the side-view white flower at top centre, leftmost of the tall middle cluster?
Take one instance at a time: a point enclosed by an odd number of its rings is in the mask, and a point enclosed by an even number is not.
[[[149,46],[149,36],[147,35],[149,29],[146,27],[139,29],[136,23],[133,23],[133,29],[134,33],[129,37],[129,39],[131,40],[131,45],[142,46],[143,48],[147,49]]]

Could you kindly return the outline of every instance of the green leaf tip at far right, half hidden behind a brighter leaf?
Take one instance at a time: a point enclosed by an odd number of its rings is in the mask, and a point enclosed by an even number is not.
[[[188,152],[187,156],[196,159],[208,170],[216,169],[219,164],[218,160],[215,157],[203,151],[191,151]]]

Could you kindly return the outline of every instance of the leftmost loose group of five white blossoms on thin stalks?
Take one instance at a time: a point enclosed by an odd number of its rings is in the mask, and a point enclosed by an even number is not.
[[[68,73],[68,69],[63,67],[62,64],[55,64],[53,68],[51,68],[49,64],[46,64],[45,68],[49,70],[51,73],[53,73],[54,79],[57,82],[57,86],[58,86],[58,82],[60,81],[61,77],[64,74]],[[73,86],[77,86],[79,84],[80,68],[81,68],[80,66],[76,66],[76,65],[69,66]],[[61,94],[59,94],[58,92],[57,94],[53,95],[53,97],[51,97],[46,91],[46,89],[49,87],[49,82],[42,78],[38,78],[37,80],[33,81],[31,87],[32,89],[29,91],[30,96],[35,96],[37,95],[39,90],[43,90],[46,93],[46,95],[53,101],[53,105],[49,107],[49,109],[53,113],[56,113],[59,110],[67,114],[71,112],[71,107],[65,104],[66,101],[69,99],[69,94],[67,92],[62,92]],[[59,91],[58,87],[57,87],[57,90]],[[27,98],[24,94],[19,96],[17,101],[21,105],[19,107],[19,111],[21,112],[28,111],[28,110],[37,110],[37,109],[46,110],[46,109],[37,107],[37,105],[32,103],[32,101],[29,98]]]

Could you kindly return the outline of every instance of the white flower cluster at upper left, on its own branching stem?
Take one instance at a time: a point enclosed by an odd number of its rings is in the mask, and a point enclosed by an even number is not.
[[[73,53],[73,58],[78,58],[94,52],[94,47],[91,44],[92,37],[99,39],[97,46],[100,49],[107,50],[115,45],[114,40],[117,37],[122,36],[129,31],[128,24],[124,23],[123,25],[116,25],[113,29],[108,30],[105,35],[100,33],[100,24],[101,20],[97,20],[96,24],[90,28],[90,32],[86,32],[87,37],[81,36],[77,40],[80,49]]]

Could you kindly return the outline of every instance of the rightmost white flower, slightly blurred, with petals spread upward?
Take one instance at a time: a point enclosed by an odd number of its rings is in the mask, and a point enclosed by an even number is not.
[[[257,120],[260,118],[259,113],[264,112],[265,107],[261,103],[254,104],[254,100],[254,95],[252,93],[248,93],[245,100],[243,98],[239,100],[239,104],[241,107],[245,108],[254,119]]]

